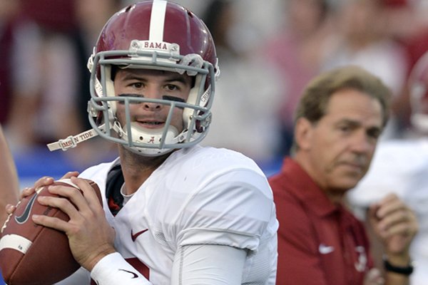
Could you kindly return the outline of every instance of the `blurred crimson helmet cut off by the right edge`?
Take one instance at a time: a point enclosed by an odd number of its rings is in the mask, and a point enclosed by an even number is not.
[[[409,76],[411,122],[419,132],[428,133],[428,51]]]

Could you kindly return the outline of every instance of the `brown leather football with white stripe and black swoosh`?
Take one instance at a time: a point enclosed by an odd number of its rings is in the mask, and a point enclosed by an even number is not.
[[[102,205],[101,192],[95,182],[87,180]],[[74,185],[71,180],[57,180],[54,185]],[[1,228],[0,269],[8,285],[54,284],[73,274],[80,265],[73,258],[65,233],[34,224],[32,214],[43,214],[68,221],[58,208],[39,204],[38,196],[56,196],[47,187],[21,199],[16,210]]]

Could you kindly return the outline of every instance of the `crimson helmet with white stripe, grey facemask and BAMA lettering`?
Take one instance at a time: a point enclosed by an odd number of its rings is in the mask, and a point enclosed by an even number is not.
[[[116,96],[112,66],[146,68],[195,76],[186,102],[136,96]],[[162,155],[205,138],[211,120],[215,80],[220,73],[213,38],[198,16],[183,6],[163,0],[141,1],[111,16],[103,27],[93,54],[89,122],[98,135],[143,155]],[[126,123],[118,122],[116,104],[123,103]],[[147,130],[131,122],[129,104],[168,105],[165,127]],[[183,131],[170,125],[172,110],[183,110]]]

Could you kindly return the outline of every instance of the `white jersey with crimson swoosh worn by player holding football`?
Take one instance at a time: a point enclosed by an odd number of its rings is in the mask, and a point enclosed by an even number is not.
[[[91,167],[80,177],[98,184],[116,229],[116,250],[151,284],[170,284],[175,252],[193,244],[246,249],[242,283],[275,284],[275,204],[253,160],[213,147],[177,150],[113,217],[106,177],[117,163]]]

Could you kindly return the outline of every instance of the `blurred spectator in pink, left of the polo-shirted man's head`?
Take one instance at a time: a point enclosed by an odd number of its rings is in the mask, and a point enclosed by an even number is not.
[[[267,39],[267,60],[279,73],[282,83],[280,144],[277,154],[285,155],[292,145],[293,118],[302,90],[320,70],[325,38],[332,32],[331,6],[327,0],[282,1],[282,25]]]

